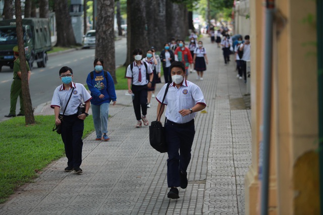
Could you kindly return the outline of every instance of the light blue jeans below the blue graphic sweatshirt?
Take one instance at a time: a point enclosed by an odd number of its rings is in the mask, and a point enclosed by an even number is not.
[[[102,133],[107,134],[107,118],[109,117],[109,105],[110,103],[103,103],[100,105],[91,104],[96,136],[102,136]]]

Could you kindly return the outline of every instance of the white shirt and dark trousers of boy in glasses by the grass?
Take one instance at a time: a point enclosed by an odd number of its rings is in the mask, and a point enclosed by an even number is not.
[[[68,102],[71,93],[72,96]],[[68,158],[68,167],[79,168],[81,166],[84,121],[78,118],[77,108],[80,103],[87,102],[91,98],[90,93],[88,93],[83,84],[74,82],[71,83],[69,90],[66,90],[64,84],[62,84],[53,93],[50,108],[53,109],[55,106],[58,106],[61,115],[63,115],[68,102],[61,125],[61,135],[65,146],[66,157]]]

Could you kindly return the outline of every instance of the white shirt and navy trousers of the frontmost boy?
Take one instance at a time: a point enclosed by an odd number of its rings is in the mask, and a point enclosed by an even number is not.
[[[160,89],[156,99],[159,103],[163,100],[167,84]],[[192,113],[182,117],[180,110],[190,109],[196,104],[205,104],[201,89],[194,83],[184,79],[180,88],[171,83],[164,100],[167,105],[165,116],[166,142],[168,146],[167,181],[168,187],[180,186],[180,171],[186,172],[191,160],[195,127]],[[179,153],[180,151],[180,153]]]

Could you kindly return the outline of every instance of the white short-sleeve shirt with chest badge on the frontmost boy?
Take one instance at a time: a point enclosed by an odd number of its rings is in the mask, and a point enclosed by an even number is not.
[[[156,99],[159,103],[163,101],[167,84],[165,84],[159,91]],[[170,84],[164,104],[167,105],[165,116],[168,120],[174,123],[187,123],[194,119],[196,113],[189,114],[185,117],[179,113],[183,109],[190,109],[195,104],[205,104],[204,96],[201,89],[194,83],[184,79],[182,86],[177,89],[176,85]]]

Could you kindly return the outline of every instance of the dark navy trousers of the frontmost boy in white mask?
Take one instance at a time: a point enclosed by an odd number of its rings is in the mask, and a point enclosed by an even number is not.
[[[178,125],[169,120],[165,124],[168,147],[168,187],[179,187],[179,171],[186,172],[191,160],[191,149],[195,135],[194,120],[189,125]]]

